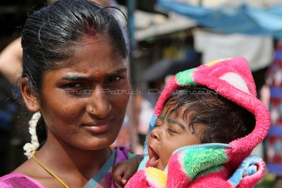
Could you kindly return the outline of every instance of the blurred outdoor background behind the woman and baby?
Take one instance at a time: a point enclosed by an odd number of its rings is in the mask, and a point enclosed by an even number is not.
[[[269,169],[257,187],[282,187],[282,0],[96,2],[119,6],[128,18],[122,27],[133,92],[113,147],[142,153],[154,104],[171,75],[214,59],[243,56],[250,63],[257,97],[271,111],[269,135],[254,151]],[[52,3],[0,1],[0,176],[26,160],[23,145],[30,142],[31,114],[15,84],[20,77],[20,32],[30,13]]]

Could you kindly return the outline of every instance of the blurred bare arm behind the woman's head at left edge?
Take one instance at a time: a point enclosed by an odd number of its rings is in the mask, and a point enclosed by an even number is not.
[[[16,83],[22,73],[23,49],[20,39],[8,44],[0,53],[0,73],[11,83]]]

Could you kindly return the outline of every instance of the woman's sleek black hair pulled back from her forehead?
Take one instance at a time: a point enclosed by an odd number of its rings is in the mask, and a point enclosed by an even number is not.
[[[63,0],[30,15],[21,42],[23,77],[27,77],[30,91],[40,96],[44,73],[68,66],[62,61],[72,58],[87,37],[101,36],[111,44],[114,54],[126,58],[125,39],[114,11],[119,10],[88,0]],[[42,145],[47,137],[44,120],[37,123],[37,135]]]

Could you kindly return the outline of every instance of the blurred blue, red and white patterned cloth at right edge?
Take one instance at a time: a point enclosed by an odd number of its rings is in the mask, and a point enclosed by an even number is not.
[[[271,127],[264,140],[264,155],[269,173],[276,175],[274,187],[282,187],[282,41],[266,73],[262,101],[269,106]]]

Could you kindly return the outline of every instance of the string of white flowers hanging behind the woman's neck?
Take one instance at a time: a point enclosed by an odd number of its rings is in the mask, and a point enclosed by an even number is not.
[[[25,151],[24,155],[27,156],[27,158],[31,158],[39,147],[39,142],[36,135],[36,125],[40,117],[41,113],[38,111],[32,115],[32,118],[28,122],[28,125],[30,125],[28,131],[31,134],[31,143],[26,143],[25,146],[23,146],[23,150]]]

